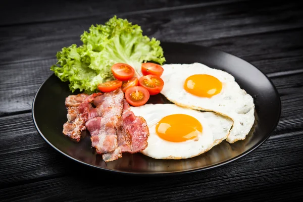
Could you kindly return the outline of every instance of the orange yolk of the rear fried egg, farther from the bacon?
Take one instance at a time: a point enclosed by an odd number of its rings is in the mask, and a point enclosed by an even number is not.
[[[214,76],[195,74],[185,80],[184,89],[199,97],[212,97],[221,92],[222,83]]]

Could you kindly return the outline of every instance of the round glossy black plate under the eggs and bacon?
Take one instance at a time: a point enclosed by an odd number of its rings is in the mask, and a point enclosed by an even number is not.
[[[33,101],[33,120],[44,140],[79,163],[128,174],[180,174],[214,168],[234,161],[260,146],[274,131],[281,112],[280,97],[273,83],[256,67],[233,55],[213,48],[163,42],[164,54],[169,63],[203,63],[211,68],[232,74],[240,87],[246,90],[256,105],[256,123],[245,140],[229,144],[223,141],[206,154],[185,160],[156,160],[142,154],[127,154],[119,160],[105,163],[95,155],[89,133],[84,132],[80,142],[73,142],[62,134],[67,121],[65,97],[72,94],[68,83],[54,74],[44,81]],[[75,92],[73,94],[76,94]],[[164,96],[155,95],[150,103],[168,103]]]

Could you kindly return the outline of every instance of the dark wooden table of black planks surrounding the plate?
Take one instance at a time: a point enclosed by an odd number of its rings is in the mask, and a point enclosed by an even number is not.
[[[303,10],[292,1],[2,2],[0,201],[293,201],[303,197]],[[211,46],[260,68],[282,115],[249,155],[206,172],[139,178],[86,168],[37,133],[33,97],[55,55],[113,15],[161,41]],[[256,81],[258,82],[258,81]]]

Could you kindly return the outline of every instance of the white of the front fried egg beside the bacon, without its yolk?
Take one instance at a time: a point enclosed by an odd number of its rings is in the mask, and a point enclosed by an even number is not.
[[[233,125],[233,121],[213,112],[199,112],[173,104],[148,104],[141,107],[131,107],[136,116],[145,119],[149,136],[147,147],[142,154],[154,159],[187,159],[198,156],[210,150],[225,139]],[[197,119],[203,130],[198,139],[184,142],[171,142],[160,138],[156,133],[156,124],[164,117],[172,114],[186,114]]]

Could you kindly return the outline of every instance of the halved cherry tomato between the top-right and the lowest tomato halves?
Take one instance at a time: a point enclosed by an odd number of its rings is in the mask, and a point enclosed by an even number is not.
[[[139,85],[146,88],[150,95],[155,95],[163,89],[164,81],[159,76],[148,74],[139,79]]]

